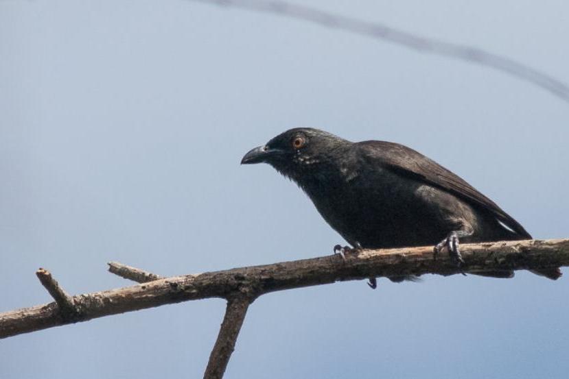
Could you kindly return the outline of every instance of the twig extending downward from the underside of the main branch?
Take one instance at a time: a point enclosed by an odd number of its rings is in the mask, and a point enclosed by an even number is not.
[[[227,309],[221,324],[216,345],[209,355],[209,362],[205,369],[204,379],[220,379],[235,350],[235,341],[243,325],[247,308],[251,304],[248,297],[233,297],[227,301]]]

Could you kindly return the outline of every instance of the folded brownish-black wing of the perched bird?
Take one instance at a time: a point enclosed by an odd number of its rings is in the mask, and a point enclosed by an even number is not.
[[[502,210],[496,203],[465,182],[448,169],[419,152],[398,143],[378,140],[360,142],[359,145],[367,158],[374,160],[388,169],[403,175],[419,179],[433,186],[461,197],[474,206],[483,208],[502,221],[516,234],[531,239],[524,227]]]

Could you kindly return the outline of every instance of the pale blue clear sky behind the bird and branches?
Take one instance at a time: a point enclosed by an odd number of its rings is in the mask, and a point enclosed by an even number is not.
[[[569,3],[306,0],[487,49],[569,82]],[[0,312],[343,243],[242,156],[290,127],[403,143],[537,239],[569,237],[569,103],[475,64],[188,1],[0,1]],[[569,271],[423,276],[259,297],[225,378],[567,378]],[[200,378],[222,299],[0,342],[1,378]]]

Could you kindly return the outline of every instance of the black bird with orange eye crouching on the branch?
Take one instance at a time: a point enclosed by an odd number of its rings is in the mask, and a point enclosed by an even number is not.
[[[260,162],[297,182],[327,223],[355,248],[435,245],[435,252],[447,247],[461,265],[458,239],[531,239],[518,221],[465,180],[398,143],[352,143],[322,130],[294,128],[255,147],[241,161]],[[559,269],[533,272],[550,279],[561,276]],[[513,271],[481,274],[511,278]],[[370,285],[375,288],[375,279]]]

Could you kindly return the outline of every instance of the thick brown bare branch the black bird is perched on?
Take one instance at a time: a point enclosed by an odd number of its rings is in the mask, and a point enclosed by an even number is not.
[[[547,241],[506,241],[461,245],[466,272],[539,269],[569,265],[569,239]],[[246,293],[255,298],[282,291],[343,280],[375,276],[402,276],[459,273],[448,254],[434,259],[432,247],[363,250],[360,254],[323,256],[272,265],[242,267],[196,275],[162,278],[152,282],[86,293],[71,297],[77,315],[65,319],[56,303],[0,313],[0,338],[33,332],[67,323],[87,321],[208,297],[231,298]]]

